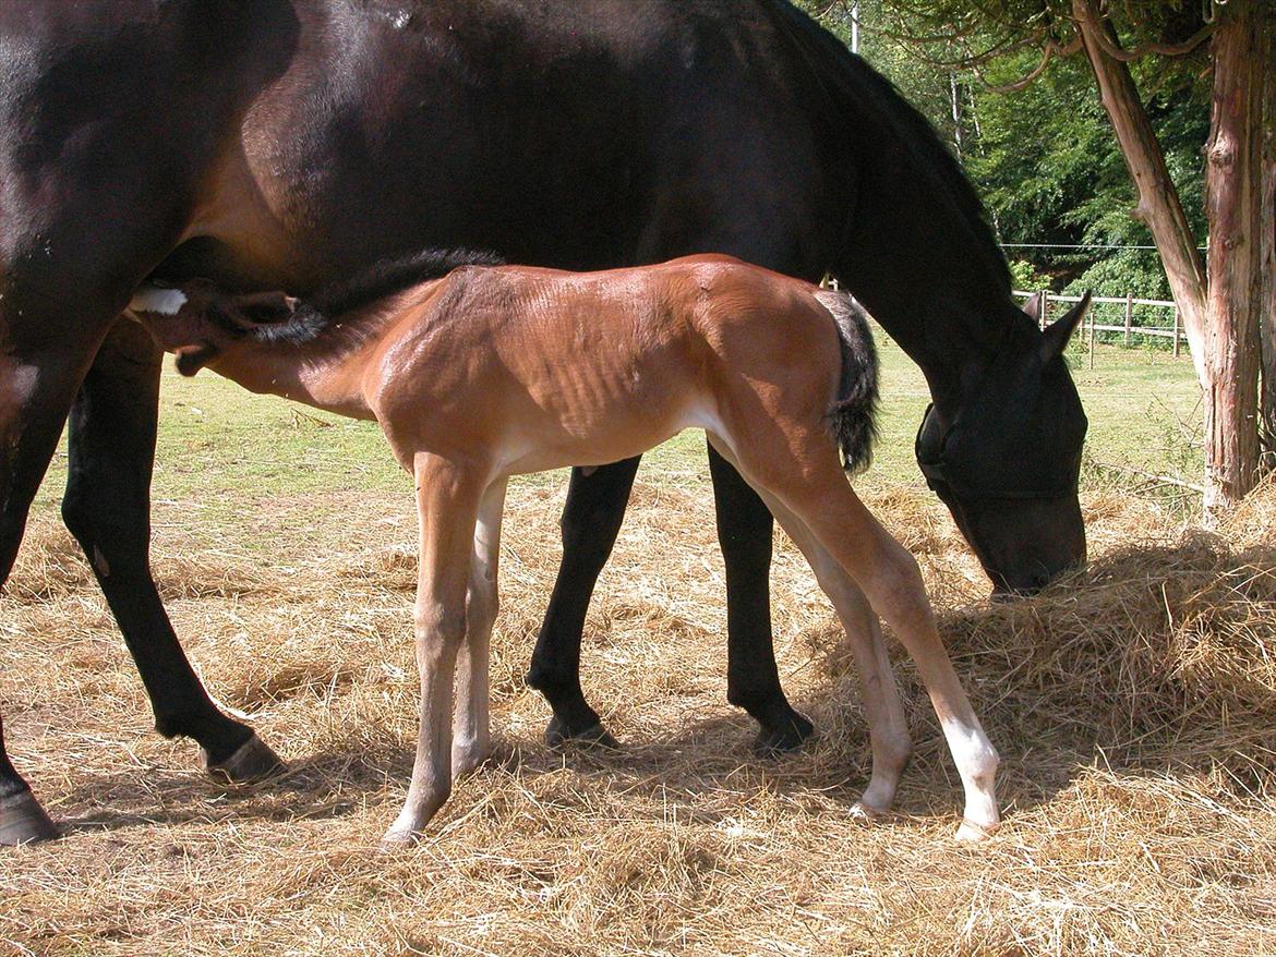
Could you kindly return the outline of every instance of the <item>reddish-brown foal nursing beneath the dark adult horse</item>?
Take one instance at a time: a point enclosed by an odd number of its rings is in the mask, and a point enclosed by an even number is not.
[[[453,776],[487,753],[508,476],[616,462],[686,427],[704,429],[763,496],[846,628],[873,744],[859,806],[889,808],[910,750],[877,612],[916,662],[961,775],[957,836],[991,832],[997,752],[916,563],[842,471],[866,463],[877,402],[872,338],[851,300],[727,256],[598,273],[467,265],[422,281],[444,265],[383,265],[309,305],[202,279],[131,305],[182,374],[208,365],[254,392],[375,419],[416,478],[421,723],[387,841],[419,835]]]

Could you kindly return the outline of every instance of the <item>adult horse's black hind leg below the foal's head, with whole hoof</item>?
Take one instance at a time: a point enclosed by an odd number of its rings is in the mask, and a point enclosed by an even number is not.
[[[209,768],[234,781],[279,759],[251,729],[209,701],[177,643],[151,574],[151,471],[162,352],[138,323],[107,333],[70,415],[63,519],[79,541],[137,662],[165,738],[185,735]]]

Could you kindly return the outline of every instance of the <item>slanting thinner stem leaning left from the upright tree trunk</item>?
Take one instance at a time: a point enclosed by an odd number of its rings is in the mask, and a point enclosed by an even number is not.
[[[1115,43],[1115,33],[1100,17],[1092,0],[1072,0],[1072,15],[1081,33],[1086,59],[1099,83],[1104,110],[1116,133],[1125,167],[1138,190],[1138,208],[1133,214],[1147,225],[1161,254],[1174,301],[1183,315],[1197,378],[1202,388],[1208,390],[1210,375],[1205,365],[1206,273],[1197,251],[1196,236],[1183,212],[1178,189],[1165,166],[1165,153],[1147,119],[1129,66],[1109,56],[1099,42],[1099,36],[1105,33],[1109,42]]]

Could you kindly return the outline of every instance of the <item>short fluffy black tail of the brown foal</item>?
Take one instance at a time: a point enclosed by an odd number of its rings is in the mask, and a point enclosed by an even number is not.
[[[832,314],[842,347],[842,378],[827,413],[829,430],[842,450],[842,467],[861,472],[873,461],[877,440],[878,365],[873,333],[864,310],[845,292],[820,290],[815,299]]]

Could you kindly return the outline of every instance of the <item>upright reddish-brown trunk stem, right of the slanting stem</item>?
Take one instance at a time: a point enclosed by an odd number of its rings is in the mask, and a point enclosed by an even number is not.
[[[1205,402],[1206,512],[1247,495],[1258,475],[1263,60],[1257,0],[1221,8],[1212,40],[1206,148],[1210,291]]]

